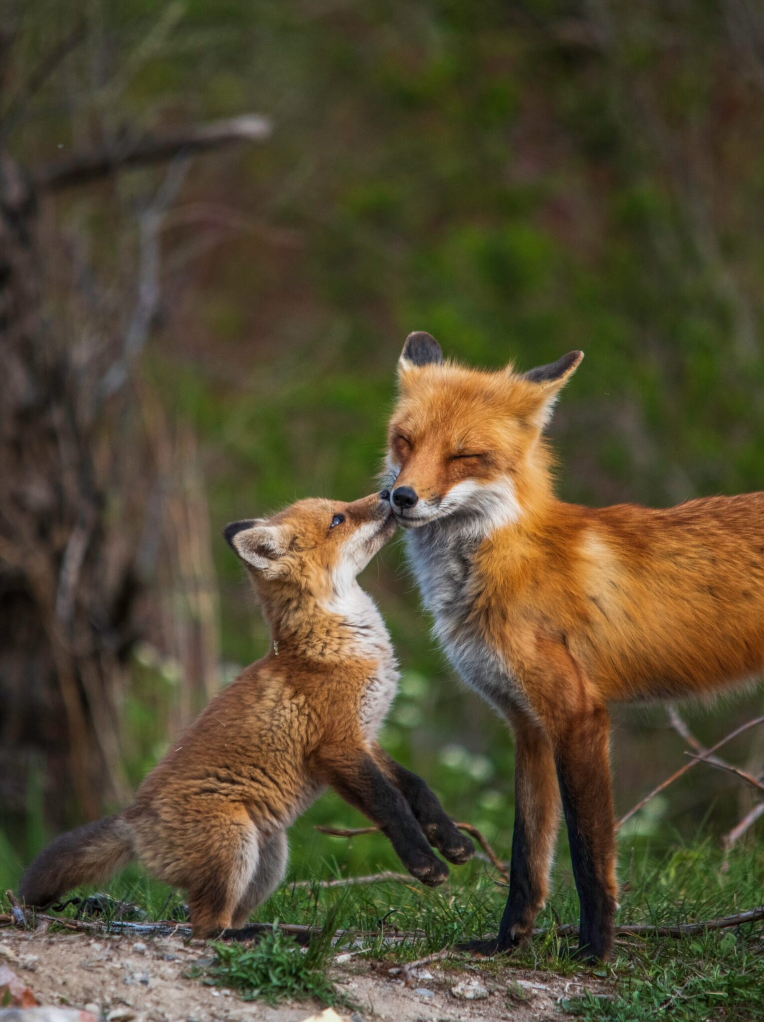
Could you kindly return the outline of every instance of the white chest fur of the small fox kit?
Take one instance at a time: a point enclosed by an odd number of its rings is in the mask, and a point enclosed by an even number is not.
[[[377,737],[398,687],[398,664],[377,605],[353,582],[331,609],[342,616],[351,637],[354,655],[373,660],[377,666],[361,697],[361,727],[369,740]]]

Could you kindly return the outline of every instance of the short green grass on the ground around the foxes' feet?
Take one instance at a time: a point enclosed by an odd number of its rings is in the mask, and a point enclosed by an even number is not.
[[[356,842],[360,844],[361,839]],[[367,848],[363,872],[378,869],[375,844]],[[749,840],[729,855],[726,869],[717,844],[701,840],[658,850],[647,844],[622,842],[623,890],[619,923],[686,923],[731,915],[764,902],[764,842]],[[499,849],[504,851],[506,849]],[[357,849],[352,856],[357,865]],[[304,863],[304,861],[303,861]],[[363,934],[364,961],[411,961],[449,946],[458,939],[494,932],[498,926],[506,890],[493,880],[492,871],[473,862],[451,869],[446,885],[429,890],[411,883],[379,883],[344,889],[318,886],[319,879],[346,875],[347,860],[332,862],[319,856],[313,875],[302,865],[300,874],[317,882],[311,887],[284,883],[253,920],[301,923],[323,927],[324,936],[314,949],[300,953],[280,930],[254,947],[219,944],[214,961],[204,973],[206,982],[236,989],[247,998],[275,1001],[316,996],[331,1004],[337,996],[326,978],[331,961],[327,934],[349,929]],[[355,872],[354,869],[352,872]],[[166,918],[180,903],[180,895],[147,880],[133,869],[107,888],[120,900],[141,905],[149,918]],[[170,899],[170,900],[169,900]],[[74,914],[70,907],[66,914]],[[574,923],[578,907],[575,888],[561,849],[550,903],[539,916],[544,933],[510,959],[481,962],[484,971],[500,975],[508,997],[516,997],[507,969],[535,969],[540,973],[587,979],[604,984],[607,997],[591,994],[571,997],[563,1008],[587,1020],[638,1022],[657,1013],[678,1020],[749,1022],[764,1018],[764,925],[706,931],[681,939],[646,936],[619,938],[613,962],[584,968],[571,961],[575,941],[559,931]],[[385,942],[394,932],[411,938]],[[458,968],[455,962],[448,968]],[[513,993],[514,991],[514,993]],[[509,1003],[509,1002],[508,1002]]]

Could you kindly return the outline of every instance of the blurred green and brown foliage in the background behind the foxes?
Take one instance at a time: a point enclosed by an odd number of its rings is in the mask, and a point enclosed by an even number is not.
[[[196,161],[164,238],[183,286],[145,359],[169,416],[202,442],[226,660],[253,659],[267,637],[220,526],[375,486],[413,329],[485,366],[585,352],[552,427],[568,499],[762,487],[764,103],[745,0],[10,7],[30,59],[75,8],[90,19],[13,133],[31,164],[123,125],[274,121],[268,143]],[[113,187],[140,195],[157,173]],[[87,213],[108,249],[108,201],[98,189],[64,197],[55,217],[65,228]],[[429,638],[398,541],[366,584],[404,667],[385,744],[506,849],[503,724]],[[146,736],[137,778],[161,736],[144,730],[140,699],[129,712]],[[623,808],[679,749],[624,729]],[[675,823],[694,829],[720,785],[704,775],[677,791]],[[738,815],[728,799],[718,826]],[[350,819],[327,798],[293,844],[315,853],[312,823]]]

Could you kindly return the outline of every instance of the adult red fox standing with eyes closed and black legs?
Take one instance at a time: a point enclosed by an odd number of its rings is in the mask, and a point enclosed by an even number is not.
[[[542,436],[583,355],[520,374],[408,338],[391,506],[453,666],[515,733],[510,892],[489,954],[527,937],[565,812],[578,955],[613,945],[608,704],[710,694],[764,669],[764,494],[586,508],[554,494]]]

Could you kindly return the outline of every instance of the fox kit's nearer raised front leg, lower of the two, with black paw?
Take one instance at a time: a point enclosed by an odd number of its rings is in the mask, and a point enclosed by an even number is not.
[[[327,784],[379,827],[412,876],[429,887],[448,877],[447,866],[433,854],[409,802],[369,751],[325,746],[316,768]]]

